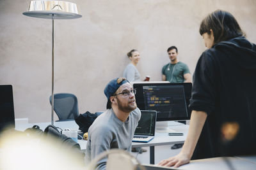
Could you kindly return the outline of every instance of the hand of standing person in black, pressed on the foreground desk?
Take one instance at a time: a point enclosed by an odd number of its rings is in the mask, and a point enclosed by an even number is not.
[[[183,164],[188,164],[189,163],[189,156],[185,155],[183,153],[179,153],[178,155],[174,157],[170,157],[168,159],[164,159],[161,162],[158,163],[159,166],[173,166],[173,167],[179,167],[182,166]]]

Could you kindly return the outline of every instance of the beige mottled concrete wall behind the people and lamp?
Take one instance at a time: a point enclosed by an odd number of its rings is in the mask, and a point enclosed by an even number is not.
[[[79,111],[106,109],[103,89],[122,76],[126,53],[141,53],[142,78],[161,80],[169,62],[166,49],[179,48],[179,60],[194,72],[205,50],[198,33],[211,11],[230,11],[256,43],[254,0],[76,0],[82,18],[55,20],[54,92],[75,94]],[[15,117],[51,121],[51,20],[26,17],[29,1],[0,0],[0,84],[12,84]],[[56,117],[56,116],[55,116]]]

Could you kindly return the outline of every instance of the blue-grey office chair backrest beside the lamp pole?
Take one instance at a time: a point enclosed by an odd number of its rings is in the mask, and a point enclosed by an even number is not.
[[[52,96],[50,96],[52,104]],[[54,111],[58,115],[58,121],[74,120],[79,116],[77,97],[74,94],[54,94]]]

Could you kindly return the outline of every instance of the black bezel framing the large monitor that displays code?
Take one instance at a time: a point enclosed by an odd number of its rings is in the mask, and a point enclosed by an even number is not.
[[[170,121],[170,120],[190,120],[191,117],[191,110],[189,109],[189,99],[191,98],[191,90],[192,90],[192,83],[151,83],[150,81],[148,83],[133,83],[133,88],[136,89],[136,103],[138,108],[140,110],[145,110],[145,104],[144,104],[144,97],[140,97],[140,92],[143,92],[143,86],[157,86],[157,85],[183,85],[184,86],[184,92],[185,92],[185,100],[186,100],[186,106],[188,111],[188,117],[176,117],[176,118],[159,118],[157,117],[157,121]],[[142,95],[143,96],[143,95]]]

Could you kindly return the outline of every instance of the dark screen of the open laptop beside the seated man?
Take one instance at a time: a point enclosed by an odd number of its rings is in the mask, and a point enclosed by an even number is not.
[[[136,127],[135,135],[154,136],[156,130],[156,111],[141,110],[141,118]]]

